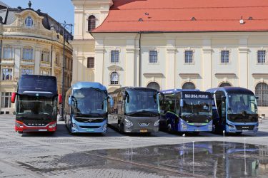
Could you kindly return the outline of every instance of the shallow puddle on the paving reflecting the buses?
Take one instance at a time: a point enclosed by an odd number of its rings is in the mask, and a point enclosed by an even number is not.
[[[102,150],[103,152],[104,150]],[[101,155],[101,152],[94,151]],[[190,142],[106,150],[106,156],[129,162],[213,177],[268,176],[268,149],[234,142]]]

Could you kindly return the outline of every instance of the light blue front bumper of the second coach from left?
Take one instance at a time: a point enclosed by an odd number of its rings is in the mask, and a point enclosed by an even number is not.
[[[107,120],[97,123],[83,123],[72,120],[71,132],[73,133],[106,133]]]

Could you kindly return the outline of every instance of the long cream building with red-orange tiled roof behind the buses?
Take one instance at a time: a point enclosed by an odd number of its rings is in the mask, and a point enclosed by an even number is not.
[[[73,80],[249,88],[268,115],[268,2],[72,0]],[[219,11],[221,13],[219,13]]]

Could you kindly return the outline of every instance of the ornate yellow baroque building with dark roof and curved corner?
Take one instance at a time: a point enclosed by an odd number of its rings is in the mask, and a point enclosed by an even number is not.
[[[57,21],[40,10],[11,8],[0,2],[0,113],[11,114],[11,93],[22,74],[54,75],[61,93],[63,43],[72,38]],[[72,47],[66,41],[64,89],[71,85]]]

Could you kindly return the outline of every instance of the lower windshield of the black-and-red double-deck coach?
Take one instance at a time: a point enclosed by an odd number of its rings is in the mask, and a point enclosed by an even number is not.
[[[17,115],[56,115],[56,97],[18,95]]]

